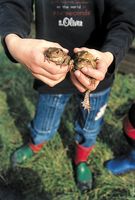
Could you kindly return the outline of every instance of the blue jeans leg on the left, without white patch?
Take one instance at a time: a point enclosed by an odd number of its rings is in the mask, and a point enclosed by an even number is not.
[[[41,94],[35,117],[30,124],[31,138],[35,144],[50,140],[57,132],[61,115],[71,94]]]

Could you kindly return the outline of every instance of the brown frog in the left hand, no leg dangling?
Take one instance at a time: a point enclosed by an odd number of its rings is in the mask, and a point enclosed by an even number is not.
[[[70,69],[73,68],[73,60],[61,48],[49,47],[44,52],[44,56],[45,56],[45,60],[54,62],[56,65],[60,65],[60,67],[62,67],[64,65],[68,65],[70,67]]]

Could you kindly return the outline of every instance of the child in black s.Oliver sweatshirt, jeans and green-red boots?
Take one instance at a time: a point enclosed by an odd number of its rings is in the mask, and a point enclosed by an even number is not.
[[[0,0],[0,33],[5,52],[12,61],[28,68],[39,92],[31,139],[14,152],[12,161],[25,162],[52,138],[72,94],[77,94],[80,105],[83,93],[94,91],[90,95],[90,112],[78,106],[75,124],[76,182],[81,190],[90,189],[92,176],[87,158],[103,123],[115,70],[135,34],[135,1],[37,0],[34,8],[36,38],[31,39],[33,1]],[[96,69],[85,67],[73,72],[68,65],[61,67],[45,61],[44,52],[49,47],[61,48],[70,56],[87,50],[98,58]],[[94,86],[89,77],[96,80]]]

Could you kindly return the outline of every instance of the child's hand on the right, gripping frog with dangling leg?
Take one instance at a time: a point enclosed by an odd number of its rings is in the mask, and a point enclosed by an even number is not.
[[[71,80],[80,92],[85,92],[86,90],[93,91],[97,88],[100,81],[105,78],[108,67],[114,58],[110,52],[100,52],[95,49],[75,48],[74,52],[82,50],[89,51],[95,59],[97,58],[96,69],[84,67],[81,70],[71,72]],[[95,79],[94,84],[90,81],[89,77]]]

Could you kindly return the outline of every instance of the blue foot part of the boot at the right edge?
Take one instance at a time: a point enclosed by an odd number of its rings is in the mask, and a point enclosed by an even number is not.
[[[114,175],[135,171],[135,149],[127,155],[107,161],[105,167]]]

